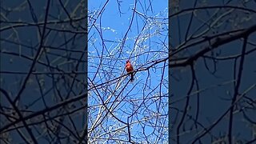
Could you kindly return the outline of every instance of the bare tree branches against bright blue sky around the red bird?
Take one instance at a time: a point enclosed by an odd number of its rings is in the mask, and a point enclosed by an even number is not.
[[[88,5],[89,143],[168,142],[168,9],[157,4]]]

